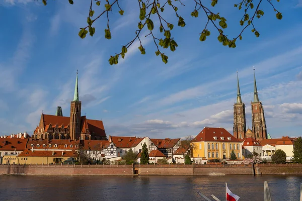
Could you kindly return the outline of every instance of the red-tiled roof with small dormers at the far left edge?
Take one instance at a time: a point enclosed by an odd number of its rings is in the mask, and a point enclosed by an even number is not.
[[[23,151],[28,139],[0,138],[0,151]]]

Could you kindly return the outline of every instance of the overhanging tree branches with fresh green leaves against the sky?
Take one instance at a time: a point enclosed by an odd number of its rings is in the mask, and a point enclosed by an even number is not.
[[[242,30],[238,35],[235,37],[228,37],[228,34],[224,34],[224,31],[228,24],[226,23],[226,19],[222,16],[220,16],[219,12],[214,12],[212,7],[215,7],[215,5],[218,4],[218,0],[194,0],[189,1],[187,6],[191,7],[191,16],[198,18],[200,17],[199,12],[203,13],[203,17],[206,18],[206,24],[205,26],[200,29],[200,41],[205,41],[208,36],[210,36],[211,32],[208,30],[209,26],[212,26],[212,29],[216,32],[216,35],[218,35],[217,39],[223,46],[229,46],[230,48],[236,47],[236,41],[237,39],[242,40],[243,32],[248,28],[251,27],[252,32],[255,34],[256,37],[260,36],[259,30],[255,27],[255,19],[261,18],[261,16],[264,15],[264,11],[261,10],[260,6],[263,2],[267,2],[272,6],[272,10],[276,13],[276,18],[278,20],[282,19],[282,14],[276,10],[271,0],[238,0],[239,3],[235,4],[234,7],[238,8],[242,11],[242,18],[239,20],[240,26],[242,26]],[[68,2],[73,5],[73,0],[68,0]],[[95,4],[93,4],[95,2]],[[84,39],[86,35],[89,32],[90,36],[93,36],[96,32],[96,29],[93,27],[95,26],[95,23],[97,20],[102,19],[102,17],[105,17],[105,20],[107,23],[105,28],[105,38],[111,39],[111,27],[109,24],[109,14],[113,13],[113,11],[118,11],[118,13],[122,16],[125,11],[122,10],[119,3],[121,0],[106,0],[101,1],[100,0],[91,0],[90,9],[89,9],[89,15],[87,17],[87,25],[80,28],[79,36]],[[211,4],[209,5],[209,3]],[[256,3],[255,3],[256,2]],[[279,0],[277,0],[279,2]],[[42,0],[42,3],[46,6],[47,0]],[[170,48],[171,51],[175,51],[178,47],[177,42],[174,40],[172,33],[175,22],[171,23],[168,22],[167,18],[164,16],[164,12],[167,10],[172,10],[176,15],[177,25],[179,27],[185,27],[185,19],[180,15],[179,8],[184,8],[184,4],[181,0],[139,0],[136,2],[139,7],[139,20],[138,20],[138,29],[135,30],[134,39],[126,43],[125,45],[122,45],[120,53],[115,54],[114,56],[111,56],[109,59],[110,65],[117,64],[119,56],[122,58],[125,57],[125,54],[127,53],[127,49],[136,41],[138,40],[140,43],[140,46],[138,47],[141,54],[145,54],[145,48],[143,47],[143,44],[141,43],[141,35],[143,30],[148,30],[148,34],[145,35],[145,37],[152,37],[156,52],[155,54],[157,56],[161,56],[162,61],[164,63],[168,62],[168,56],[165,52],[163,52],[165,49]],[[131,6],[131,8],[134,8],[134,6]],[[131,12],[131,11],[126,11]],[[167,13],[167,12],[166,12]],[[256,18],[255,18],[256,17]],[[200,19],[200,18],[199,18]],[[154,23],[154,21],[156,23]],[[158,22],[158,23],[157,23]],[[157,25],[155,27],[155,25]],[[155,28],[160,31],[161,34],[157,34],[155,31]]]

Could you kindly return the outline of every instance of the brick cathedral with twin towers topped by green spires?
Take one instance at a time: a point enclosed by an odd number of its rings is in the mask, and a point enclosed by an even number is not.
[[[237,102],[234,104],[234,137],[238,139],[242,138],[254,138],[261,141],[267,139],[266,123],[264,118],[264,111],[261,101],[259,101],[255,69],[254,69],[254,101],[251,102],[252,109],[252,130],[246,127],[246,113],[245,104],[242,102],[239,78],[237,72]]]

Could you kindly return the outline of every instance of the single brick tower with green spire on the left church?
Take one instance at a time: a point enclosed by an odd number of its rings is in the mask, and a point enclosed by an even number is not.
[[[70,139],[77,140],[81,135],[81,105],[79,100],[79,87],[78,87],[78,71],[77,79],[75,79],[75,88],[73,100],[70,103]]]

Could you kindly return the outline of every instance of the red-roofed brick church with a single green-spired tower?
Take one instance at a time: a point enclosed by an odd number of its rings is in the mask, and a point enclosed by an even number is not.
[[[89,120],[86,116],[81,116],[81,106],[77,72],[70,116],[64,117],[61,107],[57,107],[55,115],[42,113],[33,139],[108,140],[103,121]]]

